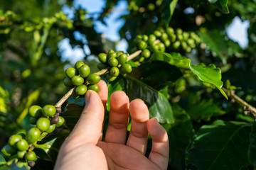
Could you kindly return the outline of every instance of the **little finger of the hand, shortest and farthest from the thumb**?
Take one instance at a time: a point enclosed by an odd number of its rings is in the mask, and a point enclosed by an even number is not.
[[[156,118],[151,118],[146,124],[149,135],[152,138],[149,160],[159,166],[160,169],[167,169],[169,161],[169,140],[167,132],[158,123]]]

